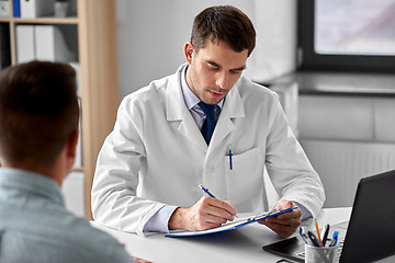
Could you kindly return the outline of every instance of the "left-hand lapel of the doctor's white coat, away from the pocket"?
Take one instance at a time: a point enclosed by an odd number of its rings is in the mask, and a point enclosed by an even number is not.
[[[166,115],[168,122],[180,122],[178,130],[190,139],[196,147],[204,152],[207,151],[207,145],[201,132],[198,128],[191,113],[184,102],[184,98],[181,90],[180,75],[185,65],[182,65],[177,73],[169,79],[167,92],[166,92]]]

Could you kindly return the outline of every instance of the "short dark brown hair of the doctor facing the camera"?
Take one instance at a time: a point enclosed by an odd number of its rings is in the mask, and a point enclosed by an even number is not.
[[[235,52],[248,49],[248,56],[256,45],[256,31],[249,18],[232,5],[211,7],[203,10],[193,21],[191,43],[199,52],[206,41],[225,42]]]

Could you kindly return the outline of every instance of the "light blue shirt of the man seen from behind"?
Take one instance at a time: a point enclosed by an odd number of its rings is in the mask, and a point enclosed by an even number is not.
[[[65,207],[54,180],[0,168],[0,262],[135,262],[123,244]]]

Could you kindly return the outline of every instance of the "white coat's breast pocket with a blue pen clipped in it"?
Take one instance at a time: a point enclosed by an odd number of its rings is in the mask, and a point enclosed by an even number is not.
[[[232,170],[230,170],[232,162]],[[262,209],[263,159],[259,148],[242,153],[234,152],[224,159],[227,197],[238,213]]]

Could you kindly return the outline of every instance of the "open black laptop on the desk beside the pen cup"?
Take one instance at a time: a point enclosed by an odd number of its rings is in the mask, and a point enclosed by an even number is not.
[[[339,239],[343,239],[340,262],[372,262],[395,254],[394,199],[395,170],[360,180],[350,220],[330,228],[330,232],[339,230]],[[262,249],[304,262],[304,245],[297,236]]]

